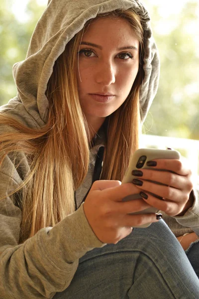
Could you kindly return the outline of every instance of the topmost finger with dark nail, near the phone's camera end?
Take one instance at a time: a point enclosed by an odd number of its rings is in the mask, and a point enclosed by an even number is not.
[[[190,175],[191,170],[187,167],[184,161],[178,159],[154,159],[157,164],[156,166],[151,166],[154,169],[164,169],[173,171],[179,175]],[[150,162],[150,161],[149,161]],[[147,162],[147,163],[149,163]]]

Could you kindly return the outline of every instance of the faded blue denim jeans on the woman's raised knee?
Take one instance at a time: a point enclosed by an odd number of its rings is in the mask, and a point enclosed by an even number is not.
[[[115,245],[107,244],[85,254],[70,286],[53,297],[154,298],[199,299],[199,279],[163,220],[134,229]]]

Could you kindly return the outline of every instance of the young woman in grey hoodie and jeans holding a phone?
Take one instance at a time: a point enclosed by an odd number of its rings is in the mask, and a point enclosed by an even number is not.
[[[199,298],[161,214],[129,215],[154,206],[195,241],[190,170],[161,159],[120,183],[157,91],[151,34],[138,0],[49,1],[0,113],[0,298]]]

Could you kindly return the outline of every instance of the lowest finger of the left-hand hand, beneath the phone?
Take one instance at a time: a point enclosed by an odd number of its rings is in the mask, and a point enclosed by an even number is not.
[[[119,225],[126,227],[141,226],[147,223],[158,222],[160,219],[156,218],[156,214],[138,214],[138,215],[125,215],[120,219]]]

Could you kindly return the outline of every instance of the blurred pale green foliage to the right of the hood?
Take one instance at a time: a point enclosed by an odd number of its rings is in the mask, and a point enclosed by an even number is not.
[[[180,15],[170,15],[167,22],[174,23],[175,19],[176,25],[169,34],[161,34],[158,7],[151,7],[161,75],[158,93],[144,124],[146,133],[199,139],[199,50],[197,36],[187,30],[194,24],[199,34],[197,7],[198,2],[189,2]]]

